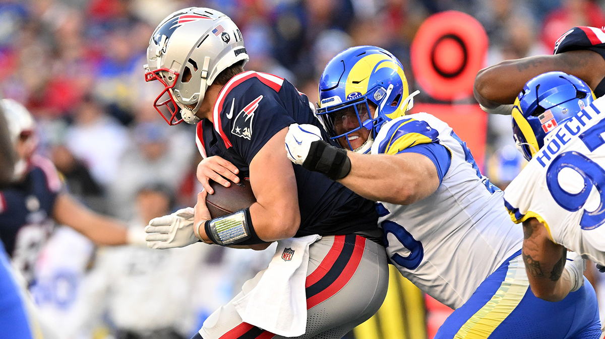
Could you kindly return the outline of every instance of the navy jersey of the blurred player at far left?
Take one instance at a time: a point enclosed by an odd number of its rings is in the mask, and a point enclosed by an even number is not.
[[[27,280],[54,222],[54,202],[62,189],[50,160],[34,156],[25,178],[0,191],[0,239]]]

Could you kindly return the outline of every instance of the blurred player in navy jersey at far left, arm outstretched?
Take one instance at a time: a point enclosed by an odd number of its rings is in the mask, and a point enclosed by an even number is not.
[[[0,191],[0,239],[28,283],[33,282],[34,264],[54,222],[97,245],[144,244],[142,231],[129,233],[122,222],[98,215],[71,197],[51,161],[35,153],[30,112],[11,99],[3,99],[1,105],[18,161],[13,181]]]

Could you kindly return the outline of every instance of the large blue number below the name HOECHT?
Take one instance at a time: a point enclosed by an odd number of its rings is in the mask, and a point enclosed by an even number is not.
[[[584,142],[590,151],[603,145],[604,141],[601,133],[605,132],[605,120],[583,132],[578,137]],[[570,168],[580,173],[584,179],[584,187],[578,193],[569,193],[559,184],[558,174],[564,168]],[[570,151],[564,152],[552,160],[551,165],[546,172],[546,185],[551,192],[552,198],[557,204],[568,211],[577,211],[586,204],[590,191],[594,186],[600,196],[601,202],[597,210],[589,212],[584,211],[580,220],[580,227],[583,230],[592,230],[603,225],[605,222],[605,170],[585,155]]]

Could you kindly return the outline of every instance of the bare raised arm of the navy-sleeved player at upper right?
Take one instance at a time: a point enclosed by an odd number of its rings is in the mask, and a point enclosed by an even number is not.
[[[594,89],[605,76],[605,59],[589,50],[505,60],[477,73],[473,92],[488,109],[512,105],[525,83],[550,71],[562,71],[584,80]],[[509,112],[510,114],[510,112]]]

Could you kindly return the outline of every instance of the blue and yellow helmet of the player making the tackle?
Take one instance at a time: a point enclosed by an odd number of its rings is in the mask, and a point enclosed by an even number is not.
[[[332,139],[343,138],[339,140],[342,147],[367,153],[380,126],[413,106],[413,95],[409,95],[404,68],[393,54],[374,46],[352,47],[325,66],[317,115]],[[372,116],[369,103],[376,108]],[[361,129],[369,131],[367,140],[353,148],[351,141],[359,136],[351,134]]]

